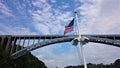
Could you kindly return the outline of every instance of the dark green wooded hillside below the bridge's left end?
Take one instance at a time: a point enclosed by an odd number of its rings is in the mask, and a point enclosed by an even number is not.
[[[0,68],[47,68],[45,64],[31,53],[12,60],[0,46]]]

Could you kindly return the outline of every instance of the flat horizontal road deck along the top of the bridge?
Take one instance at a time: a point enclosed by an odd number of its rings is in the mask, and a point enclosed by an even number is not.
[[[61,38],[61,37],[68,37],[68,36],[77,36],[77,35],[0,35],[1,37],[12,37],[12,40],[16,37],[16,39],[54,39],[54,38]],[[108,35],[82,35],[82,36],[92,36],[92,37],[99,37],[99,38],[109,38],[109,39],[120,39],[120,35],[118,34],[108,34]]]

